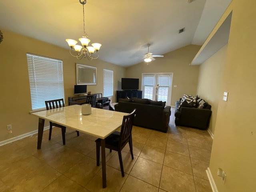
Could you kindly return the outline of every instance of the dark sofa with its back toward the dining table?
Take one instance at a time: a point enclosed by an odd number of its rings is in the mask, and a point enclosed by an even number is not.
[[[119,99],[115,110],[130,113],[136,109],[134,125],[167,132],[171,115],[171,107],[165,106],[165,102],[149,99]]]

